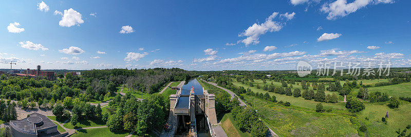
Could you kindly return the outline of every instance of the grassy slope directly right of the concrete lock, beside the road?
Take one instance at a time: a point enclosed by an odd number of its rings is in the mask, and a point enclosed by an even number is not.
[[[251,136],[250,133],[244,133],[238,129],[238,127],[234,124],[234,119],[233,116],[231,116],[231,112],[223,113],[221,115],[218,115],[218,117],[221,118],[220,126],[222,127],[222,129],[224,129],[227,136]]]

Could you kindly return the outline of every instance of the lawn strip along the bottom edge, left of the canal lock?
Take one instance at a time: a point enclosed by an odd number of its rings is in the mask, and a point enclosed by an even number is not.
[[[87,136],[87,137],[121,136],[121,137],[124,137],[124,136],[127,136],[128,134],[129,132],[113,133],[113,132],[110,132],[108,128],[92,128],[92,129],[77,130],[77,134],[73,134],[71,136]]]

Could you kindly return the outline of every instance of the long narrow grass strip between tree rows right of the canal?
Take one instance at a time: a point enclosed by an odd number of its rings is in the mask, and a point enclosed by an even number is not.
[[[257,80],[255,80],[255,81],[257,81]],[[262,83],[262,82],[261,82]],[[269,84],[271,84],[271,82],[267,82],[267,83],[269,83]],[[267,84],[266,83],[266,84]],[[278,83],[278,82],[277,82]],[[250,87],[250,86],[248,86],[248,85],[244,85],[244,84],[241,84],[241,83],[238,83],[238,82],[233,82],[233,84],[234,85],[236,85],[236,86],[244,86],[245,88],[248,88],[248,87]],[[274,84],[274,86],[275,86],[275,84]],[[277,85],[277,86],[281,86],[281,85]],[[294,88],[295,88],[296,86],[294,86]],[[300,86],[301,87],[301,86]],[[312,88],[312,87],[311,87]],[[257,92],[257,93],[263,93],[263,94],[266,94],[266,93],[268,93],[270,96],[275,96],[276,98],[277,98],[277,101],[288,101],[288,102],[290,102],[291,103],[291,105],[294,105],[294,106],[298,106],[298,107],[305,107],[305,108],[308,108],[308,109],[312,109],[312,110],[315,110],[315,106],[317,105],[317,103],[319,103],[319,102],[315,102],[314,100],[305,100],[303,97],[298,97],[298,98],[295,98],[295,97],[292,97],[292,96],[287,96],[287,95],[280,95],[280,94],[276,94],[276,93],[272,93],[272,92],[267,92],[267,91],[265,91],[265,90],[263,90],[263,89],[261,89],[261,88],[256,88],[255,86],[253,86],[253,87],[250,87],[250,89],[253,91],[253,92]],[[294,91],[294,89],[292,89],[293,91]],[[331,94],[332,92],[326,92],[326,94]],[[336,93],[337,94],[337,92],[334,92],[334,93]],[[344,99],[344,97],[340,97],[340,99]],[[345,108],[345,103],[344,102],[338,102],[338,103],[322,103],[323,104],[323,106],[324,106],[324,108],[325,109],[327,109],[327,108],[334,108],[334,109],[343,109],[343,110],[345,110],[346,108]]]

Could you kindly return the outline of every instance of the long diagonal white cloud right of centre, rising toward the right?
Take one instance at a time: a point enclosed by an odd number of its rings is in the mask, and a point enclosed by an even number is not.
[[[259,36],[266,34],[267,32],[277,32],[281,30],[284,26],[285,23],[278,22],[278,21],[273,21],[275,17],[278,16],[278,12],[272,13],[268,18],[266,18],[266,21],[262,24],[253,24],[252,26],[248,27],[247,30],[239,34],[238,36],[242,37],[245,36],[247,38],[242,39],[238,42],[242,42],[246,45],[249,44],[257,44],[259,43]],[[287,20],[292,19],[294,17],[295,13],[284,13],[281,14],[280,16],[284,16],[287,18]]]

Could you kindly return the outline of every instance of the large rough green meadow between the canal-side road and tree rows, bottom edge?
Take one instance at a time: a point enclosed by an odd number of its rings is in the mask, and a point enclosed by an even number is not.
[[[247,102],[255,102],[260,118],[279,136],[351,136],[358,133],[349,116],[284,107],[244,96]]]

